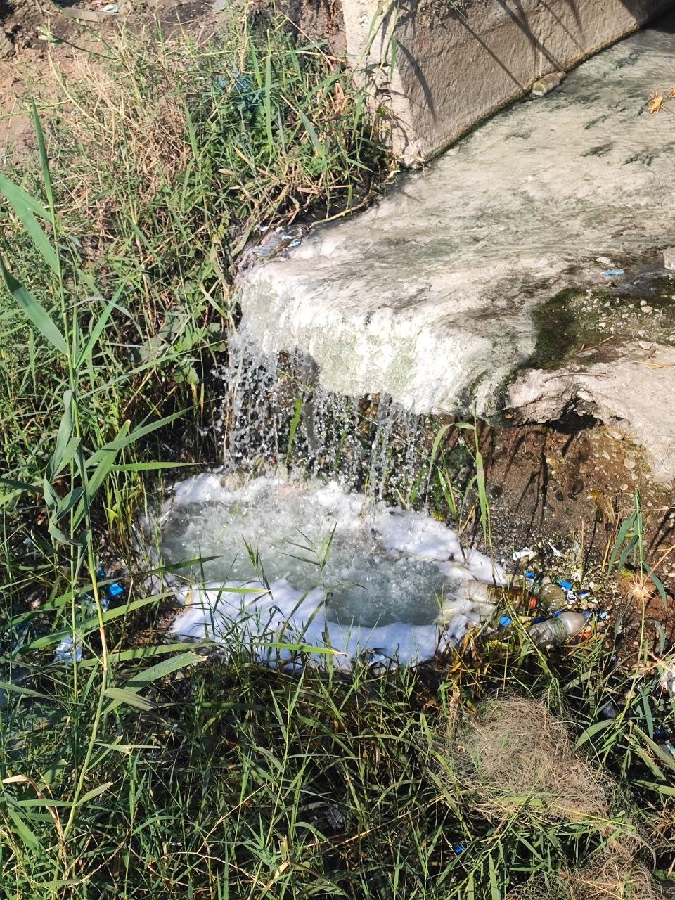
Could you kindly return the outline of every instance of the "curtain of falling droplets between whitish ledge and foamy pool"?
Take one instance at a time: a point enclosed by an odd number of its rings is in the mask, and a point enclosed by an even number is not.
[[[213,375],[224,400],[211,429],[230,471],[282,464],[378,500],[408,500],[415,490],[425,469],[423,423],[391,397],[330,392],[308,356],[266,355],[241,331]]]

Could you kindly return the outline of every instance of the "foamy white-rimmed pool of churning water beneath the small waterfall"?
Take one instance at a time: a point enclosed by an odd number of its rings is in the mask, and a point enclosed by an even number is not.
[[[338,482],[204,473],[177,482],[152,529],[177,567],[183,639],[348,668],[366,652],[431,659],[491,617],[503,573],[426,513]]]

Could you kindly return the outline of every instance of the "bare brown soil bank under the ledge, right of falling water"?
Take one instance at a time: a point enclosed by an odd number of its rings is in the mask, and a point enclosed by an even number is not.
[[[491,429],[482,451],[501,562],[513,571],[513,552],[528,547],[540,561],[531,568],[573,581],[578,567],[571,560],[581,548],[587,581],[596,581],[597,604],[590,608],[607,614],[617,657],[628,664],[638,653],[643,627],[657,657],[675,644],[675,496],[670,485],[653,482],[640,447],[621,438],[593,420],[572,417],[549,426]],[[603,574],[618,529],[635,509],[635,491],[644,514],[645,556],[667,603],[637,572]]]

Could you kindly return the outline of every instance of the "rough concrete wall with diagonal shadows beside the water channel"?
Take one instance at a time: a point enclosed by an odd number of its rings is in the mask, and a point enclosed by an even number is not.
[[[572,67],[672,7],[671,0],[342,0],[347,55],[374,103],[387,109],[394,151],[408,164],[435,156],[540,76]]]

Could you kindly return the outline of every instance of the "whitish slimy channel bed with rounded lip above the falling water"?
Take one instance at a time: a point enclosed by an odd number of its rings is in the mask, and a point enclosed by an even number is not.
[[[493,415],[534,352],[539,304],[600,291],[599,257],[629,277],[675,243],[675,128],[646,112],[673,50],[672,33],[636,34],[243,275],[244,328],[309,354],[329,390]]]

